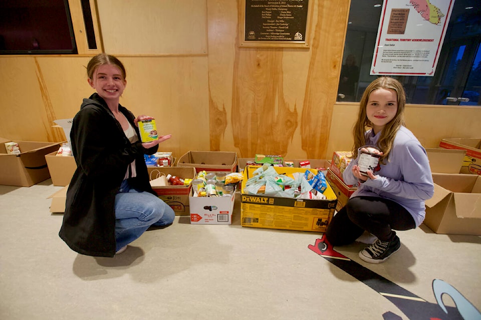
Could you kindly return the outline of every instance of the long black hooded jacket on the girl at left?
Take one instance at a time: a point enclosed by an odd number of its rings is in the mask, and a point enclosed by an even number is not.
[[[140,136],[132,112],[120,104],[119,111]],[[137,176],[129,180],[130,184],[155,194],[149,183],[144,153],[155,153],[158,145],[146,149],[140,141],[131,143],[97,93],[83,100],[74,117],[70,138],[77,169],[67,190],[59,235],[79,253],[114,256],[115,194],[134,159]]]

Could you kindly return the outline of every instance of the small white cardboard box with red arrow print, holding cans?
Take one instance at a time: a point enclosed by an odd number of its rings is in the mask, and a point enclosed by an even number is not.
[[[189,195],[191,224],[231,224],[235,194],[232,196]]]

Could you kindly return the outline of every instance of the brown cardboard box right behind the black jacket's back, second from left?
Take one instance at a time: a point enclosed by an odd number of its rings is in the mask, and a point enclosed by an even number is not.
[[[57,151],[45,155],[50,177],[54,185],[65,186],[70,183],[77,169],[77,163],[72,155],[56,155]]]

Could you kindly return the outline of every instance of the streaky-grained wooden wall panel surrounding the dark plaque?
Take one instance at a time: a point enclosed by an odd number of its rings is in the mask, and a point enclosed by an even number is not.
[[[211,136],[225,137],[211,144],[211,148],[225,145],[244,157],[255,153],[323,157],[349,1],[311,2],[314,13],[309,49],[239,48],[238,25],[244,8],[237,3],[237,16],[233,16],[233,3],[207,3],[209,81],[217,81],[217,72],[223,79],[231,79],[220,87],[210,85],[210,112],[221,114],[220,106],[227,106],[228,115],[230,104],[231,115],[218,117],[215,125],[211,122]],[[234,18],[237,24],[231,23]],[[233,52],[234,59],[227,58],[226,52]],[[231,88],[220,89],[228,85]],[[221,90],[223,93],[219,93]],[[226,92],[231,92],[231,99]],[[219,127],[224,131],[218,131]]]

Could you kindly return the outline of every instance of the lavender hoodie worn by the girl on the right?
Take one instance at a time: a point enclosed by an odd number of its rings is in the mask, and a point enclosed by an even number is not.
[[[380,135],[381,132],[374,135],[372,129],[366,131],[366,145],[377,145]],[[352,166],[358,160],[359,155],[344,170],[343,179],[346,184],[360,182],[352,174]],[[424,200],[431,198],[434,193],[426,150],[411,131],[401,126],[386,164],[381,164],[380,167],[379,171],[374,172],[377,178],[368,178],[360,183],[351,197],[379,196],[391,199],[405,207],[414,218],[416,227],[419,226],[425,215]]]

